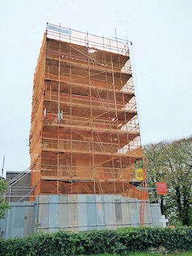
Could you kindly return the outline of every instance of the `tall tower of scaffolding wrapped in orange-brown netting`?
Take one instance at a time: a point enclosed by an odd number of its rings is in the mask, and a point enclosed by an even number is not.
[[[32,195],[140,199],[130,182],[142,158],[128,41],[47,24],[33,82]]]

